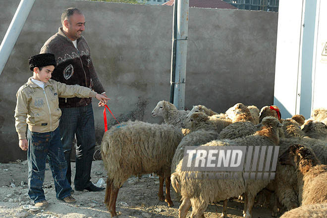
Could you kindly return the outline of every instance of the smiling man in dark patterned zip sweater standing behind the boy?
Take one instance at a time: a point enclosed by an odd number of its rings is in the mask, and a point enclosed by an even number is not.
[[[82,32],[85,17],[77,8],[68,8],[61,15],[62,27],[41,48],[40,53],[53,53],[57,66],[53,79],[67,85],[89,87],[105,94],[93,66],[90,48]],[[99,106],[104,106],[99,103]],[[91,98],[59,98],[62,115],[59,130],[67,161],[67,179],[71,184],[70,154],[76,135],[76,174],[74,178],[77,191],[102,191],[91,181],[91,166],[95,147],[95,127]]]

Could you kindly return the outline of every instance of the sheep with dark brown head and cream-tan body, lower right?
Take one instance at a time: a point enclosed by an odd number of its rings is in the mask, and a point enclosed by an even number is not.
[[[327,166],[320,164],[310,148],[291,145],[278,161],[296,168],[301,206],[327,203]]]

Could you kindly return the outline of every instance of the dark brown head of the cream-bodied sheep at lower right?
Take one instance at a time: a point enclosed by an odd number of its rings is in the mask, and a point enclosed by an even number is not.
[[[303,160],[309,160],[309,162],[312,162],[312,158],[316,159],[314,153],[309,148],[300,144],[293,144],[279,157],[278,161],[281,165],[297,167]]]

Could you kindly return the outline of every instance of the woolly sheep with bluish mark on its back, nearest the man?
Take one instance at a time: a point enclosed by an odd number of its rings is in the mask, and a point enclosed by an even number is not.
[[[132,174],[159,175],[159,199],[173,206],[170,199],[170,165],[173,154],[183,138],[177,128],[167,124],[128,121],[112,126],[105,132],[101,155],[108,172],[105,204],[111,217],[116,216],[119,188]],[[163,196],[163,180],[166,197]]]

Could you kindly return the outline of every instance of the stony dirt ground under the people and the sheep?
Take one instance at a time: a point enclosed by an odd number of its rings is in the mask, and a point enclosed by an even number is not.
[[[72,163],[74,174],[75,163]],[[1,218],[110,218],[104,205],[105,191],[75,191],[77,202],[66,204],[55,198],[54,182],[49,165],[47,165],[44,190],[49,207],[44,210],[33,209],[27,194],[27,162],[0,163],[0,217]],[[101,178],[106,181],[106,171],[102,161],[92,164],[92,182]],[[101,181],[101,180],[100,180]],[[103,184],[106,187],[106,184]],[[73,185],[72,188],[74,189]],[[119,218],[178,218],[180,203],[176,200],[171,187],[174,207],[169,208],[165,202],[158,200],[159,178],[150,176],[130,177],[120,188],[116,202]],[[243,203],[228,202],[228,218],[242,218]],[[254,208],[253,218],[271,218],[271,208]],[[205,217],[220,218],[222,202],[209,205]],[[191,213],[189,212],[187,218]]]

